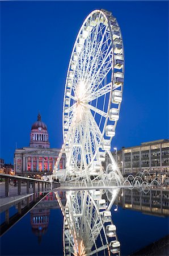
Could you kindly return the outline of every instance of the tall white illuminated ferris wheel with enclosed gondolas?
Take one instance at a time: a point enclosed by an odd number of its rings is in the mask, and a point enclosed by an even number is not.
[[[103,171],[105,152],[119,119],[124,82],[124,48],[119,24],[106,10],[94,10],[75,40],[67,71],[62,152],[75,175]],[[56,163],[56,168],[58,162]]]

